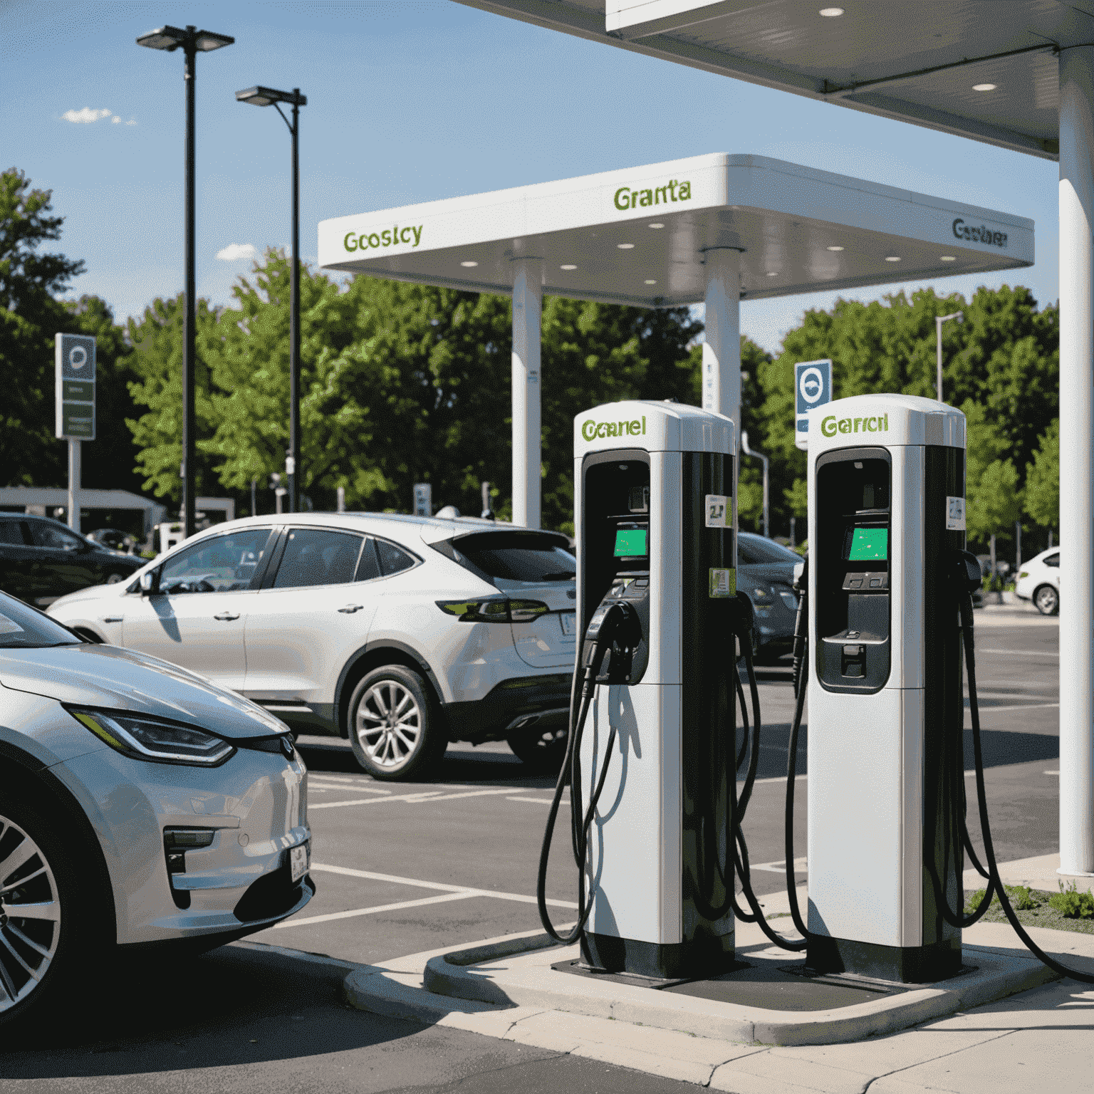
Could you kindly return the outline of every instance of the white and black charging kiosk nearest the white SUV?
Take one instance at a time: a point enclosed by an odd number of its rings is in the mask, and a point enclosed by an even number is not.
[[[733,422],[616,403],[578,416],[573,447],[580,633],[610,598],[630,602],[643,629],[630,683],[597,688],[582,738],[583,782],[609,761],[582,956],[657,979],[715,974],[734,953]]]

